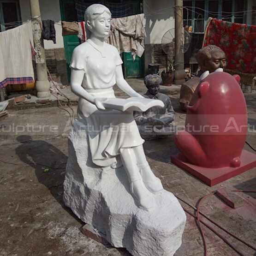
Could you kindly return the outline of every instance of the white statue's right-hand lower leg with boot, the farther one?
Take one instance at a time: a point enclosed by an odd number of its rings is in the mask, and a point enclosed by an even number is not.
[[[155,177],[155,174],[151,171],[149,163],[146,159],[143,146],[137,146],[132,148],[137,161],[137,167],[139,173],[143,179],[143,182],[147,189],[152,193],[158,193],[163,190],[161,180]]]

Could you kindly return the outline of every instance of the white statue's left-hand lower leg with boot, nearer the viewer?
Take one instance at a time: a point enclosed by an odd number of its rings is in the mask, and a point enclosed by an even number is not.
[[[143,184],[133,149],[121,149],[120,155],[130,182],[132,196],[136,199],[140,208],[153,208],[155,206],[154,198]]]

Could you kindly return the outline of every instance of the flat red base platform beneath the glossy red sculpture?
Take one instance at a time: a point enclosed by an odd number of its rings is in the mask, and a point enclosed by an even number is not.
[[[224,180],[230,179],[238,174],[250,170],[253,167],[256,167],[256,155],[249,151],[243,149],[240,160],[241,165],[236,168],[205,168],[187,163],[180,154],[171,156],[171,162],[173,164],[181,167],[209,186],[219,184]]]

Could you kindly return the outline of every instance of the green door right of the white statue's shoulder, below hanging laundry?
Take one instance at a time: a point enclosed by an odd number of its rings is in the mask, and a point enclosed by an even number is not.
[[[136,55],[135,60],[131,53],[124,54],[124,73],[126,78],[139,78],[142,77],[142,61],[141,58]]]

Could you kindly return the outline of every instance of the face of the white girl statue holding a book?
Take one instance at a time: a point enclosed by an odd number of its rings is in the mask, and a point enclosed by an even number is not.
[[[91,33],[98,37],[106,37],[110,30],[111,16],[107,12],[101,13],[97,18],[90,22]]]

